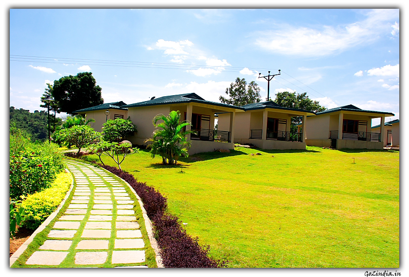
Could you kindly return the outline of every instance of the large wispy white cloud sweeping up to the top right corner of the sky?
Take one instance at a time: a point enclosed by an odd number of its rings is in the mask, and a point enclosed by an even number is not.
[[[363,21],[342,26],[319,28],[274,24],[275,29],[255,34],[260,48],[285,55],[325,56],[368,44],[390,32],[390,20],[399,17],[399,10],[376,9]]]

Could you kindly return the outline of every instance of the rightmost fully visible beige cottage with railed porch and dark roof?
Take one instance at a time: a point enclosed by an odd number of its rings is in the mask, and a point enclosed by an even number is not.
[[[345,105],[307,117],[308,146],[336,149],[383,149],[385,117],[393,113],[362,110],[354,105]],[[371,121],[381,119],[379,132],[371,132]]]

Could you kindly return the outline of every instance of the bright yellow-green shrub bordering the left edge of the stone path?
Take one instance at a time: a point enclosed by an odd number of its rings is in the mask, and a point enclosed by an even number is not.
[[[70,173],[58,173],[51,187],[30,195],[21,203],[24,208],[23,226],[37,229],[64,199],[72,183]]]

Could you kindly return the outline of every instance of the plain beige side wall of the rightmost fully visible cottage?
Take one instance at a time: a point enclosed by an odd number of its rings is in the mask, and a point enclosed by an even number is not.
[[[330,133],[329,127],[330,127],[330,115],[324,114],[324,115],[319,115],[319,116],[307,117],[305,121],[305,130],[307,131],[307,138],[306,138],[307,145],[317,146],[317,145],[310,145],[308,143],[309,140],[328,139],[329,133]],[[335,130],[338,130],[338,126],[336,127]]]

